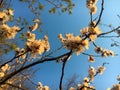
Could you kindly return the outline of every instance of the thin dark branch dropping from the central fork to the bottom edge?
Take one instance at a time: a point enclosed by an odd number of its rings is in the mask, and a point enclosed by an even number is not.
[[[62,82],[63,82],[65,65],[66,65],[66,62],[67,62],[68,58],[71,56],[71,54],[72,54],[72,50],[70,51],[70,53],[68,54],[68,56],[67,56],[67,57],[65,58],[65,60],[63,61],[63,64],[62,64],[62,73],[61,73],[60,84],[59,84],[59,90],[62,90]]]

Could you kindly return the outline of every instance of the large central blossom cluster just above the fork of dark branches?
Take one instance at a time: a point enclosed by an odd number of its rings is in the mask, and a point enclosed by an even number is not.
[[[83,40],[81,36],[74,36],[73,34],[66,34],[65,37],[59,34],[58,38],[65,48],[76,52],[77,55],[84,52],[84,49],[89,48],[89,40]]]

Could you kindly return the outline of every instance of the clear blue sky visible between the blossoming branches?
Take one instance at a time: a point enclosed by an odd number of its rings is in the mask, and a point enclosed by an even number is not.
[[[31,15],[30,11],[27,9],[25,4],[19,4],[17,0],[13,3],[15,8],[15,17],[22,16],[28,21],[32,21],[31,18],[34,16]],[[44,1],[44,0],[43,0]],[[86,27],[89,24],[89,11],[86,8],[85,0],[74,0],[76,7],[73,9],[73,14],[69,15],[68,13],[63,14],[49,14],[48,7],[46,4],[46,10],[41,14],[41,19],[43,21],[43,35],[48,32],[49,41],[51,44],[51,50],[57,49],[61,46],[59,39],[57,38],[59,33],[74,33],[79,35],[80,29]],[[100,6],[101,0],[98,2]],[[120,20],[117,17],[117,14],[120,14],[120,1],[119,0],[105,0],[104,13],[101,23],[103,24],[112,24],[113,26],[118,26]],[[99,10],[99,8],[98,8]],[[99,12],[99,11],[98,11]],[[97,16],[96,14],[95,16]],[[103,32],[109,31],[110,29],[105,26],[100,26]],[[110,39],[98,39],[96,41],[97,45],[101,45],[104,48],[112,49],[119,53],[119,48],[110,47]],[[93,53],[93,46],[91,44],[90,50],[87,50],[87,53]],[[57,53],[59,55],[62,53]],[[114,83],[117,83],[116,77],[120,74],[120,61],[119,57],[110,57],[110,58],[96,58],[96,62],[91,64],[87,61],[87,56],[79,55],[76,56],[73,54],[72,58],[67,62],[65,68],[64,83],[66,79],[71,77],[73,74],[79,75],[78,81],[87,76],[87,71],[89,65],[95,66],[102,65],[103,62],[109,62],[109,65],[106,65],[106,71],[103,75],[98,75],[93,82],[93,85],[96,86],[96,90],[106,90],[108,87],[111,87]],[[44,85],[50,86],[53,90],[58,88],[59,79],[61,75],[61,63],[55,62],[46,62],[44,64],[37,65],[35,68],[40,67],[40,70],[36,73],[33,80],[37,82],[42,82]]]

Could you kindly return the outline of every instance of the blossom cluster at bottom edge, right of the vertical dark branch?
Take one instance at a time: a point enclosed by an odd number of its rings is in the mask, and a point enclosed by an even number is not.
[[[85,77],[82,84],[77,85],[77,89],[70,87],[69,90],[95,90],[94,86],[90,86],[89,78]]]

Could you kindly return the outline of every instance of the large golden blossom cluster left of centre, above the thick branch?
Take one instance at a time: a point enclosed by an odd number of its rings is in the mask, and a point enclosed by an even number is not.
[[[46,35],[43,40],[36,40],[35,34],[27,32],[27,37],[28,40],[26,42],[26,47],[32,56],[36,57],[37,54],[42,54],[45,51],[49,51],[50,44]]]

